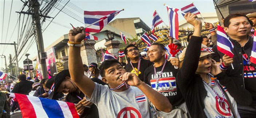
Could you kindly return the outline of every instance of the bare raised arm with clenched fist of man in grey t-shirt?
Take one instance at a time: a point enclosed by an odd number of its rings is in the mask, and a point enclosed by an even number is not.
[[[84,28],[73,28],[69,31],[68,38],[69,43],[81,43],[81,41],[83,41],[83,39],[85,38]],[[69,47],[68,69],[70,72],[71,80],[75,82],[78,88],[87,97],[91,97],[95,84],[83,73],[83,63],[80,55],[80,47]]]

